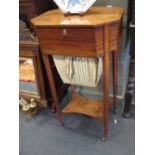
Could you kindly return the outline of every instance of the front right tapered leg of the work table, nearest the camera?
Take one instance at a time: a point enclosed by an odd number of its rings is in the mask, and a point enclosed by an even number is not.
[[[104,57],[103,57],[103,120],[104,139],[108,136],[109,111],[109,66],[110,66],[110,31],[109,26],[104,27]]]

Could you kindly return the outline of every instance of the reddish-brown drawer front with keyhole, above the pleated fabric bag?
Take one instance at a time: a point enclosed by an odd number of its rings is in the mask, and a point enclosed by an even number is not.
[[[39,27],[44,54],[96,56],[103,53],[102,27]]]

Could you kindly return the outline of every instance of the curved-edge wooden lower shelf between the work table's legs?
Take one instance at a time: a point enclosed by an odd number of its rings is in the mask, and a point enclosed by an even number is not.
[[[109,102],[111,103],[111,102]],[[80,113],[97,119],[103,116],[103,102],[101,100],[88,99],[84,96],[73,95],[71,101],[62,110],[63,113]]]

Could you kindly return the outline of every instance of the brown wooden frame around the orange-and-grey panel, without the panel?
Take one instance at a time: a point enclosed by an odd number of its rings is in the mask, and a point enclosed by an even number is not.
[[[45,94],[45,82],[43,80],[41,57],[39,52],[39,43],[37,41],[20,41],[19,44],[20,58],[30,58],[33,60],[35,76],[37,82],[38,94],[20,91],[20,97],[30,100],[35,99],[40,107],[47,107],[47,99]]]

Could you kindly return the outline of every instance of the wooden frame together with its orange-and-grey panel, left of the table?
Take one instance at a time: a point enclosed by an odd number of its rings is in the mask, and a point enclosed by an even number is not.
[[[20,41],[19,45],[19,90],[20,97],[30,101],[31,98],[39,107],[47,107],[43,66],[37,41]]]

